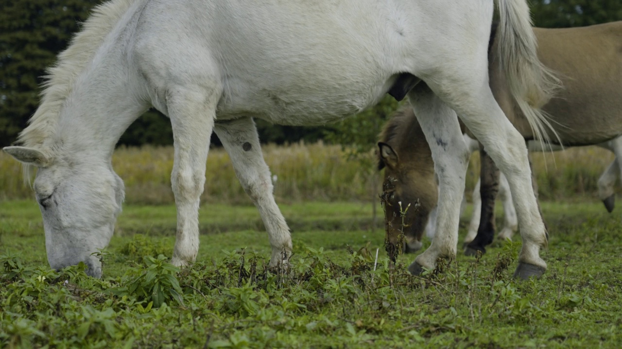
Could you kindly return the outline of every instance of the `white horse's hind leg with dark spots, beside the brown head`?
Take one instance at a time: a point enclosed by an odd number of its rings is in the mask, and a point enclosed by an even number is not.
[[[438,258],[454,258],[456,255],[460,202],[470,152],[456,113],[429,88],[415,89],[409,99],[432,150],[434,169],[439,178],[437,229],[432,244],[408,268],[412,274],[419,274],[424,268],[435,268]]]

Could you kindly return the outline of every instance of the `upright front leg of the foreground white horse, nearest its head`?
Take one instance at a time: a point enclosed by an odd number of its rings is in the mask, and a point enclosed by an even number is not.
[[[172,263],[185,266],[197,258],[198,207],[205,184],[205,163],[213,130],[216,94],[200,88],[172,88],[167,110],[175,157],[171,184],[177,206],[177,237]]]

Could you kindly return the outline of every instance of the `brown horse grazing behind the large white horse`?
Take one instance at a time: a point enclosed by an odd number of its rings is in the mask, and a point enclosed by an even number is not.
[[[497,45],[495,30],[491,45]],[[543,107],[564,146],[594,145],[622,135],[622,22],[568,29],[534,28],[540,60],[559,73],[564,89]],[[508,119],[526,140],[534,134],[512,99],[495,50],[490,50],[489,78],[494,97]],[[379,163],[384,171],[386,221],[392,242],[404,229],[406,250],[419,248],[425,224],[437,200],[434,162],[414,113],[402,109],[381,133]],[[481,224],[468,249],[485,252],[494,236],[491,205],[498,188],[498,170],[492,161],[481,171]],[[611,165],[613,168],[614,164]],[[411,204],[406,214],[401,207]],[[492,204],[490,203],[492,202]],[[415,203],[417,203],[415,205]],[[609,208],[609,207],[608,207]],[[406,228],[402,228],[402,222]]]

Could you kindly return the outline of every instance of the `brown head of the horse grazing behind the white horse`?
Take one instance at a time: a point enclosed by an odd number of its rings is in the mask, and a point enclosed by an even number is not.
[[[378,143],[379,168],[384,168],[383,204],[389,242],[399,243],[403,232],[405,252],[421,248],[421,238],[438,187],[434,161],[412,109],[400,109],[384,126]]]

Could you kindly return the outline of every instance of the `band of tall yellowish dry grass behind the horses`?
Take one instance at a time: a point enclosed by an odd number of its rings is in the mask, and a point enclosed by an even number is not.
[[[279,202],[369,201],[374,191],[379,192],[378,185],[373,185],[373,168],[363,166],[362,161],[346,160],[346,153],[339,146],[323,143],[299,143],[287,147],[264,145],[263,151],[266,163],[276,179],[274,194]],[[611,152],[596,147],[570,148],[546,155],[534,153],[532,159],[541,199],[596,197],[598,177],[613,158]],[[479,156],[475,154],[471,157],[467,174],[468,197],[479,173],[478,166]],[[113,155],[113,167],[125,181],[127,202],[173,202],[170,189],[172,147],[119,148]],[[203,201],[233,204],[250,202],[223,149],[210,150],[206,168]],[[21,165],[11,156],[0,152],[0,199],[33,196],[32,189],[22,181]]]

